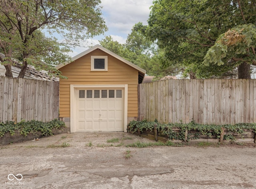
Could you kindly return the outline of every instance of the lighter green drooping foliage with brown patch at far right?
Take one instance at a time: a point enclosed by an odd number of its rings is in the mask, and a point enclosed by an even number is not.
[[[242,62],[256,64],[254,49],[256,49],[256,25],[243,24],[221,34],[214,46],[208,50],[203,63],[221,66],[230,60],[236,65]]]

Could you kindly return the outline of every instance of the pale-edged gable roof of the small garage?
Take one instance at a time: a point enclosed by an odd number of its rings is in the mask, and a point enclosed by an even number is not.
[[[135,64],[132,64],[131,62],[125,60],[124,58],[118,56],[117,54],[111,52],[110,50],[107,50],[106,48],[104,48],[104,47],[102,47],[102,46],[100,46],[100,45],[95,45],[95,46],[93,46],[92,48],[90,48],[90,49],[88,49],[88,50],[86,50],[86,51],[84,51],[84,52],[82,52],[82,53],[80,53],[80,54],[74,56],[73,58],[71,58],[71,61],[70,61],[70,62],[65,62],[65,63],[63,63],[63,64],[59,64],[59,65],[56,66],[55,68],[59,70],[60,68],[66,66],[67,64],[70,64],[71,62],[74,62],[74,61],[77,60],[78,58],[81,58],[81,57],[85,56],[86,54],[89,54],[90,52],[92,52],[92,51],[94,51],[94,50],[96,50],[96,49],[100,49],[100,50],[106,52],[107,54],[109,54],[109,55],[111,55],[111,56],[114,56],[114,58],[116,58],[116,59],[118,59],[118,60],[120,60],[120,61],[122,61],[122,62],[128,64],[128,65],[131,66],[132,68],[135,68],[136,70],[138,70],[138,71],[141,72],[142,74],[146,74],[146,70],[144,70],[144,69],[142,69],[142,68],[136,66]]]

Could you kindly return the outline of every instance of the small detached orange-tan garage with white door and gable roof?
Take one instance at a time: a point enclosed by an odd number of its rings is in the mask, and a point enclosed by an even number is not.
[[[60,119],[70,132],[125,131],[138,116],[138,84],[146,71],[96,45],[56,67]]]

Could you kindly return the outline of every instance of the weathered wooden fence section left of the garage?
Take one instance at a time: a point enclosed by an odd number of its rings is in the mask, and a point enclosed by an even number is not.
[[[0,77],[0,122],[59,117],[59,82]]]

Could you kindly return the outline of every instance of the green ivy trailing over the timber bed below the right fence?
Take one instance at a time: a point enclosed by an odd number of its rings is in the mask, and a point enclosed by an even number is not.
[[[162,132],[167,135],[170,141],[172,140],[183,140],[185,141],[186,130],[188,133],[188,141],[191,139],[199,139],[200,135],[207,135],[208,137],[216,136],[217,139],[220,138],[221,128],[224,127],[227,130],[227,134],[224,135],[224,140],[234,140],[235,137],[232,133],[237,133],[242,135],[245,129],[254,129],[256,131],[256,123],[237,123],[235,125],[202,125],[194,123],[168,123],[162,124],[158,121],[130,121],[127,127],[128,132],[137,132],[138,129],[143,132],[143,130],[152,131],[154,127],[158,129],[158,132]],[[193,135],[193,137],[192,137]],[[141,144],[134,144],[140,146]]]

